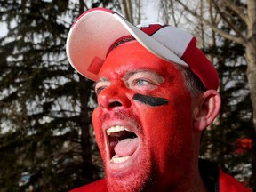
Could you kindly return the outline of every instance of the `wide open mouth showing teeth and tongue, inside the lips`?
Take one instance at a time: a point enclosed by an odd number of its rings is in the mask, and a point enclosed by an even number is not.
[[[138,136],[122,125],[111,126],[107,130],[110,162],[120,164],[128,160],[139,147]]]

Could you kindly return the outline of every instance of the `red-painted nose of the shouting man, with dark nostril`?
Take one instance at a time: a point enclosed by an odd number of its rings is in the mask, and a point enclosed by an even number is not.
[[[126,93],[122,85],[110,84],[98,95],[98,103],[101,108],[108,110],[129,108],[131,106],[131,100],[129,100]]]

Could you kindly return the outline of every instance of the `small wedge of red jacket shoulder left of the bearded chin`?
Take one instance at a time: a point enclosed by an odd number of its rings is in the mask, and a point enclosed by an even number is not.
[[[107,191],[106,180],[105,179],[97,180],[83,187],[75,188],[69,192],[85,192],[85,191],[86,192],[95,192],[95,191],[106,192]]]

